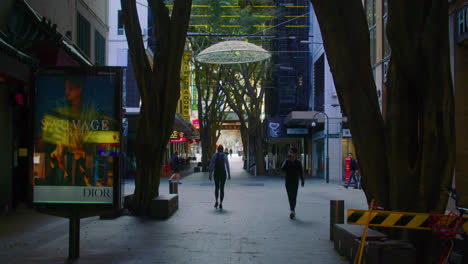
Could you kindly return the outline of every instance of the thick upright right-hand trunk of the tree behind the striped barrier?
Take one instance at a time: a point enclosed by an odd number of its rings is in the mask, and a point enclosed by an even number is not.
[[[386,119],[389,140],[398,143],[389,145],[395,210],[443,213],[447,204],[455,163],[447,14],[447,1],[389,2]]]

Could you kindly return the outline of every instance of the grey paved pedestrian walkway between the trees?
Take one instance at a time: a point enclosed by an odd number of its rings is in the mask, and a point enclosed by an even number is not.
[[[240,158],[230,161],[224,210],[213,207],[208,174],[191,174],[182,179],[179,210],[168,220],[83,219],[81,258],[74,263],[346,263],[329,241],[329,200],[365,208],[362,191],[306,179],[297,218],[290,220],[282,178],[253,177],[241,169]],[[131,189],[126,186],[126,192]],[[160,192],[168,192],[167,181]],[[14,223],[8,227],[13,231],[0,231],[0,263],[64,263],[67,220],[31,214],[42,220],[24,233]]]

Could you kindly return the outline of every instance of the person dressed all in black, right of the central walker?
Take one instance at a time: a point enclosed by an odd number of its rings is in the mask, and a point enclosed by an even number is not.
[[[286,192],[288,193],[289,207],[291,212],[289,218],[296,217],[296,198],[297,189],[299,188],[299,177],[301,185],[304,187],[304,175],[302,173],[302,164],[296,159],[297,149],[292,147],[289,150],[288,158],[283,162],[281,168],[286,171]]]

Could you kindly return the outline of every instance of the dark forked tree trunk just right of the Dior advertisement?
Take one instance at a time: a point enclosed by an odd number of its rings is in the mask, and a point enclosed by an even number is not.
[[[136,213],[147,214],[159,194],[161,166],[180,97],[180,69],[190,19],[191,0],[175,0],[172,16],[162,1],[149,1],[157,47],[151,67],[138,20],[136,2],[121,0],[130,58],[142,106],[136,133]]]

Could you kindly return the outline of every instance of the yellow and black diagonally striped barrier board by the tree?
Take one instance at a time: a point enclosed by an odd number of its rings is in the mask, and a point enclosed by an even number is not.
[[[370,221],[368,220],[369,217]],[[431,230],[429,227],[429,217],[430,214],[425,213],[375,210],[369,216],[368,210],[348,209],[347,223],[351,225],[366,225],[369,221],[369,226]],[[468,232],[468,217],[463,217],[462,228],[465,232]]]

